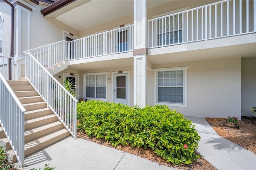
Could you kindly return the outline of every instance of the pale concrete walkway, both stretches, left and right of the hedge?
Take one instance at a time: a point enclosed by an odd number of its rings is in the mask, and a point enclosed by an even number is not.
[[[201,117],[189,117],[201,137],[198,152],[219,170],[255,170],[256,155],[220,136]],[[139,156],[84,139],[68,137],[27,157],[28,168],[56,170],[174,170]]]

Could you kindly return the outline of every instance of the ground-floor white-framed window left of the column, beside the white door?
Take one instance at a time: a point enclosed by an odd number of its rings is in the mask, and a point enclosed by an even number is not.
[[[106,99],[106,74],[84,74],[86,98]]]

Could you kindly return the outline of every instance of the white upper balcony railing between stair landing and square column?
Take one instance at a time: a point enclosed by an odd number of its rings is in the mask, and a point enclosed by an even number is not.
[[[133,25],[68,42],[68,59],[84,59],[133,50]]]

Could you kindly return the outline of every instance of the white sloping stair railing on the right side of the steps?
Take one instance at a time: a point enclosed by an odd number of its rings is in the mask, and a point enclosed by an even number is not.
[[[25,53],[26,79],[76,139],[78,101],[30,53]]]

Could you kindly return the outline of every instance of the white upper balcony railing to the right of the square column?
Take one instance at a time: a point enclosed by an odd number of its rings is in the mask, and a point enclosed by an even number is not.
[[[148,48],[256,32],[256,0],[222,0],[148,20]]]

